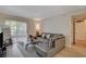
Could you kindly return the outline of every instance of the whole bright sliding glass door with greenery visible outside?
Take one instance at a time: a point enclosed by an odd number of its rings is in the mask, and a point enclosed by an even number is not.
[[[19,21],[5,21],[5,25],[11,28],[11,37],[13,42],[27,40],[26,23]]]

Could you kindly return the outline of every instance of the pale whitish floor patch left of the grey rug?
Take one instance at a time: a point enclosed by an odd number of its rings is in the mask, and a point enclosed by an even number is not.
[[[23,54],[16,47],[16,43],[7,48],[7,57],[23,57]]]

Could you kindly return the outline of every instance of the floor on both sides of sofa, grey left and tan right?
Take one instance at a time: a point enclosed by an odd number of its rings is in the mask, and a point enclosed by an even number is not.
[[[83,41],[76,46],[72,46],[72,48],[64,48],[62,51],[58,52],[53,57],[86,57],[86,47]],[[7,57],[39,57],[35,50],[28,48],[28,51],[25,51],[22,46],[17,46],[14,43],[13,46],[9,46],[7,50]]]

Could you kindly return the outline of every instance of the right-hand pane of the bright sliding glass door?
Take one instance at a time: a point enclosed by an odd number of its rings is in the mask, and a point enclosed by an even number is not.
[[[16,25],[16,38],[17,41],[26,42],[27,41],[27,33],[26,33],[26,23],[17,22]]]

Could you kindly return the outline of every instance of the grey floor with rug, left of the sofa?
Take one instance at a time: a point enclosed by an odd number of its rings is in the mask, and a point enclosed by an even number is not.
[[[26,51],[24,47],[19,43],[9,46],[7,48],[7,57],[39,57],[33,47]]]

